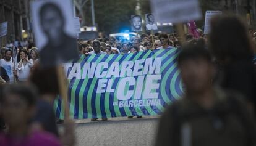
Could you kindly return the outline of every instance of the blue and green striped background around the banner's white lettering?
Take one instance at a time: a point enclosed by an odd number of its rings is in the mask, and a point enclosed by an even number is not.
[[[85,63],[95,62],[97,65],[100,62],[106,62],[110,66],[113,62],[119,62],[119,68],[121,68],[122,62],[132,61],[140,59],[161,57],[161,79],[158,81],[160,84],[159,89],[152,89],[151,92],[158,93],[158,99],[160,103],[157,105],[149,106],[134,106],[134,107],[120,107],[120,100],[117,98],[117,92],[105,92],[96,93],[98,86],[98,78],[88,78],[85,76],[84,79],[69,79],[69,90],[68,90],[68,101],[70,102],[70,118],[83,119],[83,118],[109,118],[118,116],[137,116],[137,115],[160,115],[163,113],[164,108],[175,100],[179,99],[183,93],[183,86],[181,82],[181,76],[177,68],[177,55],[179,54],[178,49],[158,49],[154,51],[138,52],[137,54],[110,54],[110,55],[89,55],[85,57],[82,55],[79,60],[74,60],[74,63],[80,63],[81,75],[83,75],[83,67]],[[73,67],[72,66],[72,67]],[[71,68],[69,68],[67,75],[69,75]],[[133,67],[134,68],[134,67]],[[133,69],[132,68],[132,69]],[[142,69],[143,70],[143,69]],[[109,68],[105,68],[101,71],[109,71]],[[120,71],[120,70],[119,70]],[[144,76],[146,79],[147,75]],[[101,78],[111,79],[113,81],[112,88],[118,90],[121,79],[126,77],[113,77]],[[132,76],[136,81],[139,76]],[[137,89],[137,86],[142,86],[142,89],[147,89],[145,81],[143,83],[136,83],[134,87],[129,87],[126,84],[124,88],[124,95],[132,89]],[[142,91],[143,94],[143,91]],[[128,100],[136,100],[135,94]],[[152,102],[152,101],[151,101]],[[60,119],[64,119],[64,109],[62,107],[63,102],[60,97],[56,98],[54,102],[54,110],[56,116]]]

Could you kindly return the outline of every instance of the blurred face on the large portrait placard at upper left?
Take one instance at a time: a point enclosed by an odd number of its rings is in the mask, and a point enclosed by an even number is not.
[[[58,10],[48,7],[41,15],[41,26],[46,36],[51,39],[58,38],[63,31],[64,20]]]

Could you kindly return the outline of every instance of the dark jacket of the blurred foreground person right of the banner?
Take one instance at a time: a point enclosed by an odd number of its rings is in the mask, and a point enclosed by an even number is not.
[[[215,95],[211,110],[189,97],[173,103],[161,117],[155,145],[182,145],[181,131],[185,125],[191,131],[191,145],[255,145],[255,127],[241,98],[217,89]]]

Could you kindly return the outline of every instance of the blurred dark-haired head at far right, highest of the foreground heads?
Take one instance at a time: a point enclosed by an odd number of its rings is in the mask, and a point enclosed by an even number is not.
[[[209,44],[219,63],[252,60],[247,28],[236,15],[222,15],[211,20]]]

